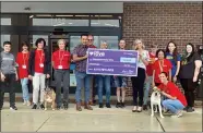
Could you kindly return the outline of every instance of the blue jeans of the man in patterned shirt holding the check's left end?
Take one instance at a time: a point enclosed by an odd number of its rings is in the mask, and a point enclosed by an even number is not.
[[[75,99],[76,102],[81,102],[81,89],[84,84],[84,89],[85,89],[85,102],[89,101],[89,90],[91,90],[91,76],[86,74],[85,72],[79,72],[75,71],[75,77],[76,77],[76,92],[75,92]]]

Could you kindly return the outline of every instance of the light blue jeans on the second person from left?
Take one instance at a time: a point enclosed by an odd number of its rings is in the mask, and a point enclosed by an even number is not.
[[[29,100],[28,94],[28,78],[21,78],[22,92],[23,92],[23,100]]]

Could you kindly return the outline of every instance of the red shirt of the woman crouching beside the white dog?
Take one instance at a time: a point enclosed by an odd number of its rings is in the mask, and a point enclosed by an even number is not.
[[[176,97],[184,107],[188,105],[184,95],[172,82],[168,82],[167,85],[160,84],[158,88],[169,94],[170,96]]]

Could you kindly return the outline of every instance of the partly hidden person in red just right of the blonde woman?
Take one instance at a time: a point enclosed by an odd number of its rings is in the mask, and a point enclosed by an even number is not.
[[[150,52],[150,61],[148,65],[146,65],[146,78],[145,78],[145,86],[144,86],[144,105],[143,110],[147,110],[147,100],[148,100],[148,90],[153,83],[153,64],[156,61],[156,50],[157,45],[151,45],[151,52]]]

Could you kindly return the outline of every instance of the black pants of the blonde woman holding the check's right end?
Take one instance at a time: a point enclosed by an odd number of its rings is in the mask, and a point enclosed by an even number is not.
[[[131,77],[134,106],[140,106],[140,107],[143,106],[144,81],[145,81],[145,70],[139,68],[138,76]],[[139,105],[138,105],[138,95],[139,95]]]

